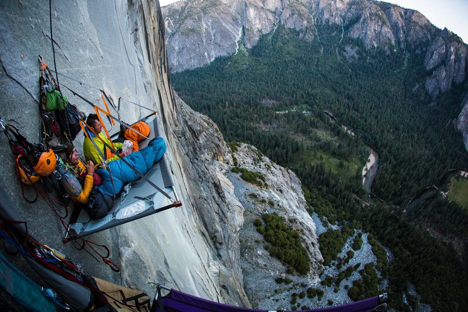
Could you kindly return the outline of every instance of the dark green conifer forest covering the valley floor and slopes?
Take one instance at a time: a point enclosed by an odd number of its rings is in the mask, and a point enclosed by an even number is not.
[[[309,42],[279,25],[252,49],[240,42],[232,56],[172,74],[174,88],[218,124],[227,142],[255,145],[290,167],[310,210],[322,220],[362,228],[390,248],[395,259],[380,268],[389,279],[390,307],[410,311],[402,293],[408,296],[413,283],[434,311],[465,309],[467,248],[457,253],[431,233],[466,240],[467,210],[439,195],[408,214],[405,209],[447,171],[468,167],[468,152],[452,123],[466,83],[432,99],[424,87],[428,73],[421,47],[366,50],[360,39],[341,38],[336,25],[317,25],[317,31],[320,41],[315,36]],[[366,200],[363,143],[380,153],[372,193],[382,201],[370,205],[357,199]],[[323,155],[340,159],[338,167],[325,166]]]

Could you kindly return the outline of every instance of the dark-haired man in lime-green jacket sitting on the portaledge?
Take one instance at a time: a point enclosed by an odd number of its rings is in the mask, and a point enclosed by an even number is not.
[[[106,142],[108,145],[112,146],[110,143],[110,140],[102,133],[102,124],[99,121],[99,118],[97,117],[96,114],[89,114],[88,118],[86,119],[86,123],[93,128],[93,131],[99,136],[99,138],[102,138],[104,142]],[[86,129],[86,132],[88,133],[89,137],[93,137],[96,146],[99,148],[101,151],[102,155],[107,158],[107,161],[112,161],[112,160],[118,160],[118,156],[110,152],[109,149],[105,149],[106,153],[104,154],[104,143],[99,138],[96,138],[93,132],[89,131]],[[96,148],[91,142],[91,140],[88,138],[86,133],[84,134],[85,136],[85,141],[83,142],[83,152],[85,154],[85,160],[88,162],[88,160],[91,160],[95,165],[98,165],[102,163],[101,156],[99,155],[99,152],[96,151]],[[114,143],[115,149],[121,149],[122,148],[122,143]],[[130,150],[131,151],[131,150]],[[122,157],[125,157],[129,154],[128,153],[120,153],[119,155]]]

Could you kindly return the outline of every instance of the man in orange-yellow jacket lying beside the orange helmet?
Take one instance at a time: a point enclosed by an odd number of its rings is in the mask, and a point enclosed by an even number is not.
[[[78,196],[71,196],[70,198],[79,203],[87,204],[89,199],[89,194],[91,193],[91,189],[93,189],[94,184],[94,164],[91,160],[88,161],[88,165],[85,166],[83,162],[78,157],[78,152],[76,152],[76,148],[73,145],[66,142],[68,147],[67,151],[65,152],[66,156],[66,165],[71,167],[74,171],[73,174],[75,176],[80,176],[84,170],[86,170],[86,177],[83,185],[83,190],[81,191],[80,195]]]

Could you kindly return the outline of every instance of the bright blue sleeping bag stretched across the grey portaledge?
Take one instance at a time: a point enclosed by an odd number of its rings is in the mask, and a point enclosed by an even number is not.
[[[164,142],[163,138],[156,137],[145,148],[125,156],[124,160],[128,161],[140,173],[146,174],[156,162],[161,160],[164,152],[166,152],[166,142]],[[112,186],[109,171],[104,168],[98,169],[96,173],[102,176],[102,184],[98,186],[98,189],[102,194],[114,197],[120,192],[124,184],[135,181],[140,177],[120,159],[111,161],[107,166],[109,166],[112,173],[114,186]]]

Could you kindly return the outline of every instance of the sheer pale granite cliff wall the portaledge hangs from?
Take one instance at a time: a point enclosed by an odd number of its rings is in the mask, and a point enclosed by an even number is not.
[[[1,105],[0,116],[17,126],[30,142],[37,143],[37,55],[54,68],[48,1],[2,2],[0,8],[4,12],[0,22],[1,97],[8,103]],[[166,154],[183,206],[90,235],[92,241],[110,247],[110,259],[121,268],[120,273],[115,273],[91,255],[75,250],[71,243],[61,242],[63,228],[42,198],[34,204],[24,201],[14,158],[5,136],[0,135],[4,168],[0,185],[14,203],[13,208],[28,222],[29,232],[81,263],[86,274],[106,281],[138,288],[150,296],[155,289],[149,283],[159,282],[195,296],[249,307],[243,290],[239,243],[244,207],[225,176],[233,159],[216,124],[194,112],[173,92],[159,2],[52,1],[52,23],[57,70],[67,76],[59,75],[61,84],[98,106],[102,104],[99,89],[117,94],[114,100],[121,96],[120,116],[127,123],[153,110],[158,112],[161,136],[168,145]],[[65,88],[63,92],[80,110],[92,112],[88,104]],[[111,133],[118,131],[118,127],[105,123]],[[82,143],[80,134],[74,144],[81,155]],[[249,161],[248,156],[243,161]],[[295,178],[291,173],[286,176]],[[285,182],[283,189],[296,198],[297,209],[303,210],[305,202],[297,182],[297,178],[296,184]],[[42,188],[39,183],[36,186]],[[26,187],[25,196],[34,198],[33,188]],[[308,235],[316,243],[313,223],[308,226]],[[314,255],[314,261],[320,261],[320,253]],[[41,282],[24,262],[18,258],[11,261]],[[314,274],[311,276],[316,277]],[[231,290],[228,296],[220,296],[221,284]]]

